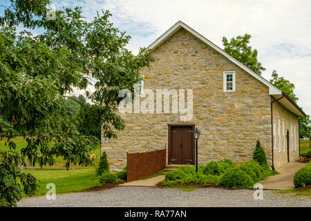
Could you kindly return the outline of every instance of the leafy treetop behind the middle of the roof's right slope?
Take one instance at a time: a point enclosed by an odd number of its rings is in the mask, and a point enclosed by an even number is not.
[[[252,50],[252,46],[248,45],[251,37],[251,35],[247,34],[243,36],[238,35],[236,38],[230,39],[230,41],[228,41],[226,37],[223,37],[224,50],[249,69],[253,70],[254,73],[261,75],[261,72],[265,70],[265,68],[263,68],[261,62],[257,60],[257,50]]]

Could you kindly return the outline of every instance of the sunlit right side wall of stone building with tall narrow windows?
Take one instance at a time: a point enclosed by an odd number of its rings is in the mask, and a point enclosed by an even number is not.
[[[283,98],[285,99],[285,98]],[[284,108],[279,102],[272,104],[273,120],[275,122],[275,134],[274,134],[274,168],[279,169],[281,166],[288,162],[288,146],[287,146],[287,131],[289,131],[289,155],[290,162],[299,158],[299,122],[298,117]],[[279,126],[280,120],[280,126]],[[284,120],[284,142],[283,146],[283,120]],[[279,136],[280,128],[280,136]],[[296,142],[295,132],[296,131]],[[280,144],[280,146],[279,146]],[[296,145],[295,145],[296,144]]]

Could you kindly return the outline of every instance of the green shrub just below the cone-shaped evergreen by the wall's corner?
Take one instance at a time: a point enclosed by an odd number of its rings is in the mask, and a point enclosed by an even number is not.
[[[238,165],[238,168],[247,173],[255,182],[267,177],[267,173],[265,173],[263,166],[254,160],[244,162],[243,164]]]

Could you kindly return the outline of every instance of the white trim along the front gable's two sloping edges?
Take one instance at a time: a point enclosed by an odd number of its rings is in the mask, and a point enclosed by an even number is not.
[[[247,73],[249,73],[249,75],[252,75],[256,79],[258,79],[258,81],[261,81],[261,83],[265,84],[265,86],[267,86],[269,88],[269,94],[270,95],[282,95],[282,90],[280,90],[279,88],[276,88],[276,86],[271,84],[269,81],[267,81],[263,77],[257,75],[256,73],[254,73],[254,71],[247,68],[247,66],[242,64],[240,61],[238,61],[238,60],[234,59],[233,57],[231,57],[230,55],[228,55],[223,49],[221,49],[218,46],[216,46],[215,44],[213,44],[211,41],[209,41],[209,39],[206,39],[205,37],[200,35],[198,32],[196,32],[195,30],[193,30],[192,28],[187,26],[182,21],[178,21],[173,26],[171,26],[171,28],[169,28],[169,30],[164,32],[164,34],[161,35],[158,39],[156,39],[156,41],[153,41],[153,43],[150,46],[148,46],[148,49],[153,50],[153,49],[157,48],[165,40],[167,40],[169,37],[171,37],[171,35],[173,35],[175,32],[180,30],[180,28],[185,28],[187,31],[191,32],[192,35],[198,37],[198,39],[203,41],[205,44],[207,44],[208,46],[210,46],[211,48],[213,48],[214,50],[219,52],[221,55],[227,57],[227,59],[232,61],[234,64],[236,64],[237,66],[239,66],[240,68],[245,70]]]

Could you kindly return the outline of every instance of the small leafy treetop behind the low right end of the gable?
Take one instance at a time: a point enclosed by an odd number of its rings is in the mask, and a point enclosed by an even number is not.
[[[294,102],[298,101],[298,97],[296,97],[296,95],[294,94],[294,84],[292,84],[288,79],[285,79],[284,77],[279,77],[279,74],[276,72],[276,70],[272,71],[271,77],[272,79],[270,79],[270,82],[274,84],[276,88],[279,88],[280,90],[287,93]]]

